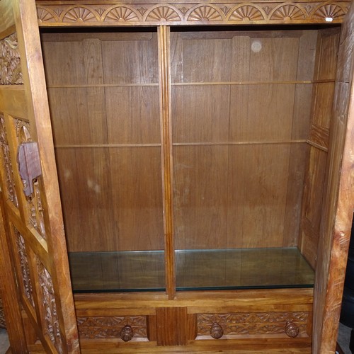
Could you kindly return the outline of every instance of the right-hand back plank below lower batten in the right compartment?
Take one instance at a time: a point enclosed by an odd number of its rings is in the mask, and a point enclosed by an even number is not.
[[[282,246],[289,154],[288,144],[229,147],[229,247]]]

